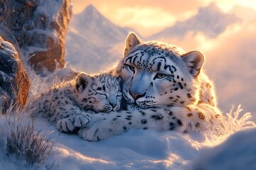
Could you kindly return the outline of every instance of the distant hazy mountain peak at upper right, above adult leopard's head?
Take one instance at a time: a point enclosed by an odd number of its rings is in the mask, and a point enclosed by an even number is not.
[[[174,26],[152,35],[150,39],[183,38],[190,31],[193,33],[201,32],[208,38],[215,38],[220,33],[223,33],[225,28],[236,22],[240,22],[238,16],[224,13],[215,4],[210,4],[210,6],[199,8],[196,16],[183,22],[177,22]]]

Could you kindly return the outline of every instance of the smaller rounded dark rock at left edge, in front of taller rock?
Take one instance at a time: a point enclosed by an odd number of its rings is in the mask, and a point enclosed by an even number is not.
[[[14,45],[0,37],[0,113],[11,105],[24,106],[30,84]]]

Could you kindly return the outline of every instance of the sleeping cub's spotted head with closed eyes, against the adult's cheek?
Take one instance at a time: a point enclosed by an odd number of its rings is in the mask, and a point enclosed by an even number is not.
[[[118,111],[122,99],[121,77],[99,74],[90,77],[81,73],[75,79],[77,96],[75,100],[85,110],[99,112]]]

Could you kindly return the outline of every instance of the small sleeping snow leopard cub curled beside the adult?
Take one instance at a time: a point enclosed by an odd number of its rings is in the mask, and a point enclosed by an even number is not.
[[[90,77],[80,73],[41,94],[28,109],[33,117],[39,115],[55,124],[60,132],[77,132],[90,121],[90,113],[119,111],[121,82],[121,77],[110,74]]]

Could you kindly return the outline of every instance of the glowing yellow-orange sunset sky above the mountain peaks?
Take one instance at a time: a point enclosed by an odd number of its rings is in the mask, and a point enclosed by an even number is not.
[[[224,11],[229,11],[235,4],[256,9],[256,1],[252,0],[72,0],[74,14],[92,4],[113,23],[134,28],[143,36],[158,33],[173,26],[176,21],[185,21],[195,15],[199,7],[208,6],[213,2]]]

